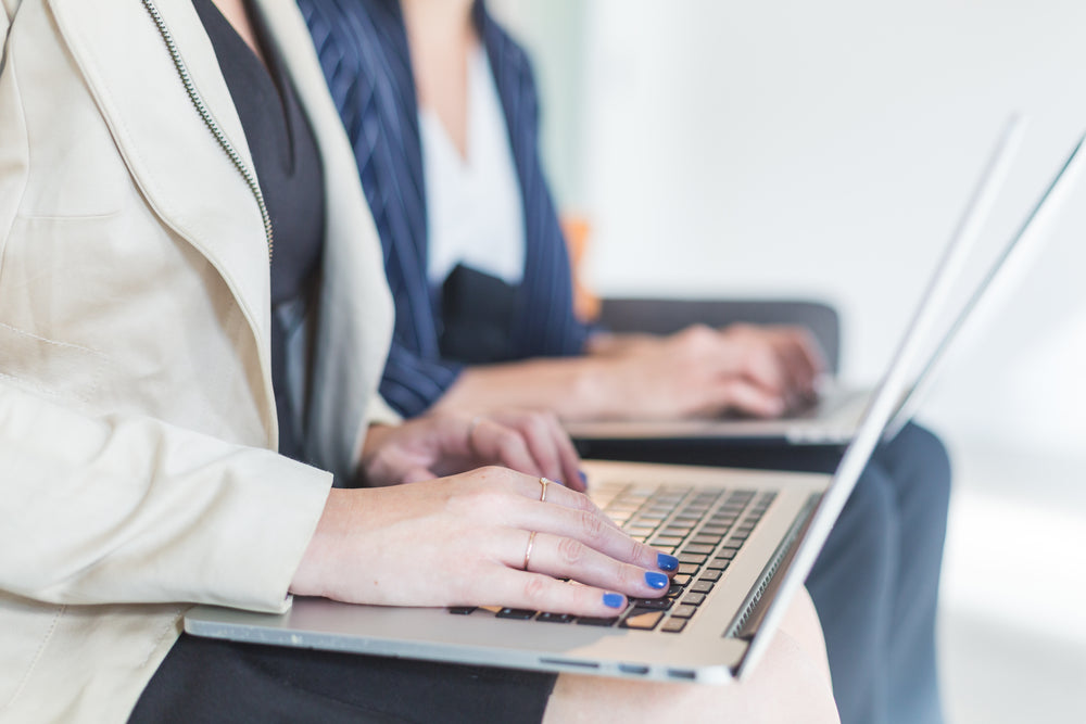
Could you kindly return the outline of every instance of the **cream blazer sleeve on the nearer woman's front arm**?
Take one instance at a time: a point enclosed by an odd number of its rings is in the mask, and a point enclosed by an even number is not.
[[[331,474],[0,380],[0,588],[56,604],[276,611]]]

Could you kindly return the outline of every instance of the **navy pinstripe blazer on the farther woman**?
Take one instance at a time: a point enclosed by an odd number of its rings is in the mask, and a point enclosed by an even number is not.
[[[405,416],[424,411],[456,380],[442,359],[440,309],[429,287],[418,106],[399,0],[298,0],[328,87],[354,147],[384,246],[395,301],[381,395]],[[523,200],[525,274],[514,358],[579,354],[588,331],[573,316],[566,243],[539,157],[539,104],[523,50],[477,2],[473,18],[505,112]]]

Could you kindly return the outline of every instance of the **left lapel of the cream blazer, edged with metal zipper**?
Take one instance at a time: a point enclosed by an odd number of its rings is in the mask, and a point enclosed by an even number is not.
[[[48,2],[140,191],[166,226],[218,269],[249,319],[270,385],[264,223],[255,196],[186,92],[151,14],[140,0]],[[241,122],[191,2],[153,3],[193,88],[252,169]]]

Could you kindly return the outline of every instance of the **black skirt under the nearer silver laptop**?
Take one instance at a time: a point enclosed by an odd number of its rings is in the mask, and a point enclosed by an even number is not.
[[[128,721],[539,722],[555,679],[181,634]]]

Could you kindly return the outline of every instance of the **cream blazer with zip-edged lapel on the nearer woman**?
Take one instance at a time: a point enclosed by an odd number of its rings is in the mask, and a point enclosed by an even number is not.
[[[331,475],[277,444],[268,242],[189,0],[0,0],[0,721],[124,721],[188,602],[276,611]],[[313,122],[328,223],[307,417],[351,469],[392,309],[292,0],[258,0]]]

